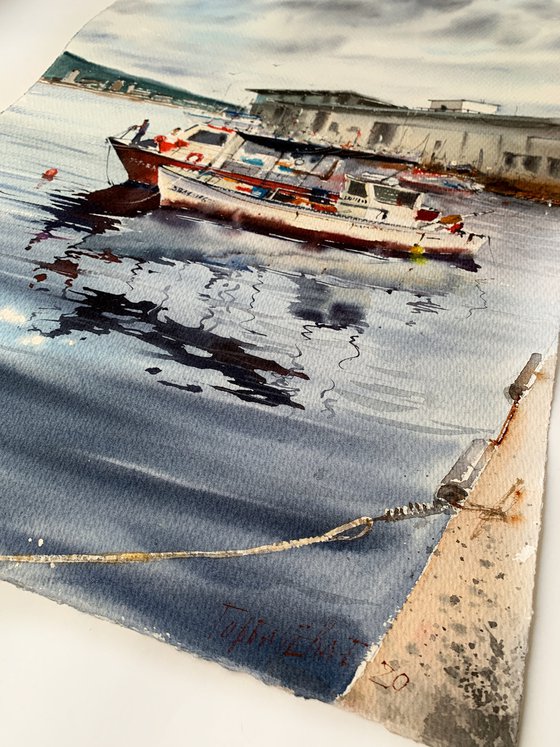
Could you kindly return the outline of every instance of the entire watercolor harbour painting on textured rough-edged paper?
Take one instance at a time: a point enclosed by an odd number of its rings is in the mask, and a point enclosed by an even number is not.
[[[0,116],[2,580],[426,745],[517,743],[559,17],[120,0],[72,39]]]

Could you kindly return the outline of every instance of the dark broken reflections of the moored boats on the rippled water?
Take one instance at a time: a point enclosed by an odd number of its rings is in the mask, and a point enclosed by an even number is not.
[[[45,221],[41,231],[31,239],[26,249],[36,248],[36,245],[46,240],[61,240],[68,244],[64,237],[67,229],[79,231],[84,236],[71,242],[62,255],[55,254],[50,261],[39,260],[30,287],[39,287],[48,280],[49,274],[55,273],[64,279],[67,288],[72,288],[82,272],[80,262],[84,258],[104,264],[121,264],[124,259],[133,259],[137,263],[133,272],[138,272],[147,262],[145,257],[119,256],[110,248],[98,252],[88,251],[81,246],[87,236],[119,231],[122,227],[120,218],[144,215],[158,206],[157,189],[134,183],[114,185],[85,194],[53,196],[52,203],[46,208],[46,212],[52,217]],[[168,262],[163,255],[154,257],[152,254],[150,261],[158,260]],[[205,290],[210,290],[220,276],[223,278],[224,273],[216,268]],[[361,333],[367,327],[364,307],[337,298],[340,290],[337,294],[332,288],[317,283],[309,276],[301,275],[293,280],[299,292],[298,299],[290,303],[289,309],[295,317],[312,322],[317,328],[336,331],[352,327]],[[256,286],[255,292],[259,292]],[[219,371],[235,387],[214,385],[213,388],[217,391],[231,393],[247,402],[304,409],[294,399],[298,389],[293,379],[307,380],[307,374],[298,370],[298,367],[287,368],[272,359],[255,355],[252,351],[257,349],[256,345],[242,343],[204,329],[203,322],[211,318],[211,315],[201,320],[196,327],[189,327],[167,316],[168,309],[165,305],[149,300],[131,301],[125,293],[109,293],[85,285],[74,295],[73,302],[74,311],[63,314],[54,329],[44,333],[39,328],[32,329],[48,338],[72,333],[119,333],[135,337],[160,351],[156,353],[156,358],[172,360],[187,369]],[[351,344],[358,350],[355,339],[355,336],[351,338]],[[152,375],[161,373],[161,369],[154,366],[146,370]],[[284,382],[285,388],[275,387],[267,383],[259,371],[287,377],[291,380],[290,385],[286,388]],[[203,391],[197,384],[179,384],[164,378],[158,381],[164,386],[191,393]]]

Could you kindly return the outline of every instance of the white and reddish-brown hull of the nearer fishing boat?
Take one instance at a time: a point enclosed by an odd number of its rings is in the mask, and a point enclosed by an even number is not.
[[[186,208],[247,230],[315,244],[472,257],[486,240],[476,234],[453,234],[444,226],[424,230],[275,204],[167,168],[159,169],[158,185],[162,207]]]

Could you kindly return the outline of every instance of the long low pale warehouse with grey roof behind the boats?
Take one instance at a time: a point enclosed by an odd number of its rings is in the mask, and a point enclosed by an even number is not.
[[[560,120],[499,115],[496,104],[466,99],[407,109],[351,91],[249,90],[250,113],[277,137],[560,189]]]

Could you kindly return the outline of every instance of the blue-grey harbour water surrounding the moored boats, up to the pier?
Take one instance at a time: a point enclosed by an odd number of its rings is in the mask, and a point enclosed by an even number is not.
[[[146,116],[153,134],[189,123],[46,84],[0,117],[0,551],[244,548],[430,501],[555,344],[558,209],[430,197],[478,214],[468,229],[490,242],[470,264],[310,248],[150,209],[147,191],[136,215],[119,188],[99,209],[91,194],[126,180],[106,136]],[[448,518],[273,555],[0,576],[331,700]]]

